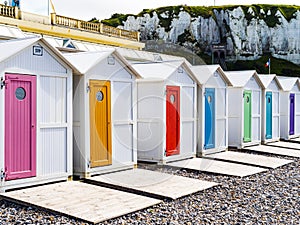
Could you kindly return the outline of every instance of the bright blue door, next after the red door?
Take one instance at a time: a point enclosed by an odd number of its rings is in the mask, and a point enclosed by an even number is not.
[[[205,143],[204,149],[215,147],[215,89],[205,89]]]

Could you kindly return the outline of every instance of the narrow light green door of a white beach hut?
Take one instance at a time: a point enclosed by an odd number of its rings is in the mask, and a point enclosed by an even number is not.
[[[251,141],[251,91],[244,91],[244,142]]]

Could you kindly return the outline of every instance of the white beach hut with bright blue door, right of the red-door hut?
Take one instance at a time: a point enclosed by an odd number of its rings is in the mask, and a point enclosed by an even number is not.
[[[219,65],[192,66],[198,86],[197,155],[228,148],[228,92],[230,81]]]

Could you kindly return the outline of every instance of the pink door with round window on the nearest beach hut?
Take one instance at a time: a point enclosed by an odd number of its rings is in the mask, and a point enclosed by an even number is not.
[[[36,77],[5,75],[6,180],[36,175]]]

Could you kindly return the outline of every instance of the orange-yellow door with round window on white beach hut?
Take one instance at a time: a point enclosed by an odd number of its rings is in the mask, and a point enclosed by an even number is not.
[[[112,163],[110,82],[90,80],[91,167]]]

